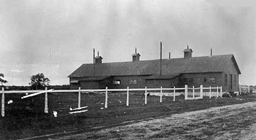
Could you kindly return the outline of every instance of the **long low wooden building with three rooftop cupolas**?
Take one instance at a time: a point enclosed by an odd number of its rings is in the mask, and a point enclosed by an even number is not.
[[[234,55],[192,57],[192,49],[184,50],[184,57],[141,61],[135,51],[130,62],[102,63],[95,57],[94,63],[86,63],[71,73],[68,78],[71,89],[125,89],[217,87],[223,91],[238,91],[239,74]]]

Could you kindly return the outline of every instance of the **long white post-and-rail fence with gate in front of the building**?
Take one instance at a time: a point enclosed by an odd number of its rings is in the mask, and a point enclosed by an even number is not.
[[[189,89],[192,89],[192,95],[193,97],[188,97],[188,94],[190,94],[190,92],[188,92]],[[200,89],[200,96],[199,97],[195,97],[195,95],[197,95],[197,93],[195,92],[196,89]],[[78,92],[78,108],[81,107],[81,92],[105,92],[105,108],[108,107],[108,92],[111,91],[126,91],[127,92],[127,96],[126,96],[126,106],[129,106],[129,92],[131,91],[145,91],[144,97],[145,97],[145,104],[147,104],[147,96],[150,93],[149,91],[160,91],[160,103],[162,102],[162,96],[164,95],[162,91],[172,91],[172,96],[173,96],[173,101],[175,101],[175,96],[179,96],[182,95],[181,92],[176,92],[177,90],[184,90],[184,96],[185,96],[185,100],[196,100],[196,99],[202,99],[203,97],[203,89],[208,89],[210,92],[208,92],[208,94],[205,94],[205,96],[209,96],[210,98],[212,96],[216,96],[216,97],[222,97],[222,86],[217,86],[217,88],[211,88],[211,86],[209,88],[203,88],[203,86],[201,85],[200,88],[188,88],[188,85],[185,85],[184,88],[154,88],[154,89],[148,89],[147,86],[143,89],[129,89],[129,87],[127,87],[127,89],[108,89],[108,87],[106,87],[106,89],[86,89],[86,90],[82,90],[80,87],[78,88],[78,90],[48,90],[47,88],[45,88],[45,90],[21,90],[21,91],[4,91],[4,88],[2,88],[2,108],[1,108],[1,114],[2,116],[4,116],[4,94],[14,94],[14,93],[33,93],[30,95],[26,95],[23,96],[22,98],[27,98],[27,97],[32,97],[32,96],[36,96],[39,94],[45,94],[45,106],[44,106],[44,113],[48,113],[48,92]],[[212,89],[217,89],[217,94],[212,93],[211,90]],[[220,92],[218,92],[220,90]]]

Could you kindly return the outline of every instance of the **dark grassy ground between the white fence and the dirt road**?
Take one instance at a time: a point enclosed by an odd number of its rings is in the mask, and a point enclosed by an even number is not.
[[[144,94],[130,94],[130,106],[126,107],[126,94],[109,93],[108,108],[104,107],[104,94],[82,94],[81,106],[88,106],[88,112],[69,114],[69,107],[78,106],[77,93],[48,93],[49,113],[44,113],[44,94],[25,98],[24,94],[5,94],[5,116],[1,117],[1,139],[19,139],[52,133],[79,133],[100,128],[123,125],[127,121],[168,116],[210,107],[256,101],[254,97],[211,98],[184,101],[184,96],[148,96],[144,104]],[[9,100],[13,103],[8,104]],[[103,109],[101,109],[103,108]],[[52,111],[56,111],[55,118]]]

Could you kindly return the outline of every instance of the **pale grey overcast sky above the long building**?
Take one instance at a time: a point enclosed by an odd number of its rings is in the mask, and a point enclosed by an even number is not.
[[[5,85],[28,85],[44,73],[51,85],[93,62],[234,54],[240,84],[256,85],[256,1],[35,0],[0,1],[0,73]]]

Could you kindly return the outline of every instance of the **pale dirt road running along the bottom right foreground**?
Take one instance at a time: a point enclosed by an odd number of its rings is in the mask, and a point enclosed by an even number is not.
[[[256,102],[173,114],[57,139],[256,139]]]

